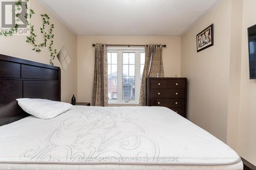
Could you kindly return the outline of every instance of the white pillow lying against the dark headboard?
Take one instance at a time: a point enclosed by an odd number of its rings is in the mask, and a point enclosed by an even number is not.
[[[27,113],[42,119],[49,119],[73,109],[73,105],[46,99],[16,99],[18,105]]]

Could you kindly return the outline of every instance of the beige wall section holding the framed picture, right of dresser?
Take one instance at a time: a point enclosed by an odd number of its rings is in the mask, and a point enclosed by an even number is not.
[[[221,14],[221,16],[220,16]],[[182,36],[181,76],[188,78],[188,119],[226,141],[231,2],[223,1]],[[214,23],[214,46],[197,53],[196,35]]]

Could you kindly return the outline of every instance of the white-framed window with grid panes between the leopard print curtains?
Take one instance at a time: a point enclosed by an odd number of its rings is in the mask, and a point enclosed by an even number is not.
[[[108,47],[109,103],[139,103],[144,48]]]

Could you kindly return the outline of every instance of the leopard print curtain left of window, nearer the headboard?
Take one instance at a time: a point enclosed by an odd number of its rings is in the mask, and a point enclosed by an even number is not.
[[[108,57],[105,44],[95,45],[92,106],[108,106]]]

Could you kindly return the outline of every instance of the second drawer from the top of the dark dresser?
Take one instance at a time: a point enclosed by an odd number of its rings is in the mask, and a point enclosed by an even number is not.
[[[185,89],[151,89],[150,98],[185,98]]]

